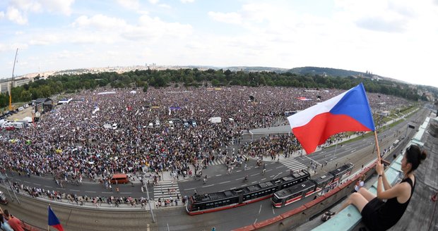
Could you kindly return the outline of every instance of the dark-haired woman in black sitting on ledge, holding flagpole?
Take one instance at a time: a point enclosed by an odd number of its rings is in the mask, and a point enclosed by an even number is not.
[[[414,170],[418,168],[426,156],[426,152],[422,151],[419,146],[409,146],[401,161],[404,178],[393,187],[386,180],[383,165],[378,162],[376,165],[376,172],[379,175],[377,177],[377,196],[362,187],[359,192],[348,197],[340,211],[353,204],[360,211],[362,222],[369,230],[388,230],[405,213],[415,189]],[[384,199],[386,202],[382,201]]]

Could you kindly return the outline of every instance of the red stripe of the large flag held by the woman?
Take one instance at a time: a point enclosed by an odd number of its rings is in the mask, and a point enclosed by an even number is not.
[[[324,144],[332,135],[350,131],[369,131],[369,128],[350,116],[328,112],[316,115],[306,125],[292,129],[307,154],[315,151],[316,146]]]

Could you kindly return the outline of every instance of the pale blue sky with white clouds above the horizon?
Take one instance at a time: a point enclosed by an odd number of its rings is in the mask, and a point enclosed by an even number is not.
[[[116,65],[318,66],[438,87],[438,0],[1,0],[0,78]]]

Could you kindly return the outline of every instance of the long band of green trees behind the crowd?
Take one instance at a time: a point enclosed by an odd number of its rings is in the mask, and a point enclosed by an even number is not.
[[[13,102],[26,102],[32,99],[49,97],[53,94],[80,92],[83,89],[110,86],[112,88],[138,88],[144,92],[148,87],[226,87],[232,85],[259,87],[302,87],[307,89],[350,89],[363,82],[367,92],[400,96],[413,101],[427,101],[426,96],[418,95],[411,85],[389,80],[372,80],[369,77],[323,77],[322,75],[302,75],[297,73],[244,72],[230,70],[135,70],[126,73],[85,73],[78,75],[54,75],[47,79],[35,77],[30,82],[11,90]],[[430,88],[429,90],[431,90]],[[435,89],[436,91],[436,89]],[[434,92],[435,95],[438,92]],[[0,107],[7,106],[8,93],[0,94]]]

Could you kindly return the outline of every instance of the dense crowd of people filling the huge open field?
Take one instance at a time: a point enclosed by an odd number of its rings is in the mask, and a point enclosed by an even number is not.
[[[114,94],[100,94],[105,91]],[[182,175],[191,164],[199,166],[212,156],[225,155],[225,147],[248,130],[278,125],[278,121],[284,124],[285,111],[300,111],[342,92],[285,87],[83,91],[73,96],[75,101],[45,113],[35,126],[2,131],[1,168],[90,179],[112,173],[136,175],[143,168]],[[408,104],[392,96],[368,94],[368,98],[374,112]],[[212,117],[222,118],[221,123],[211,123]],[[193,118],[197,126],[172,127],[167,123],[172,118]],[[155,126],[157,120],[160,126]],[[117,129],[103,126],[114,123]],[[293,135],[258,142],[239,151],[275,155],[300,148]]]

